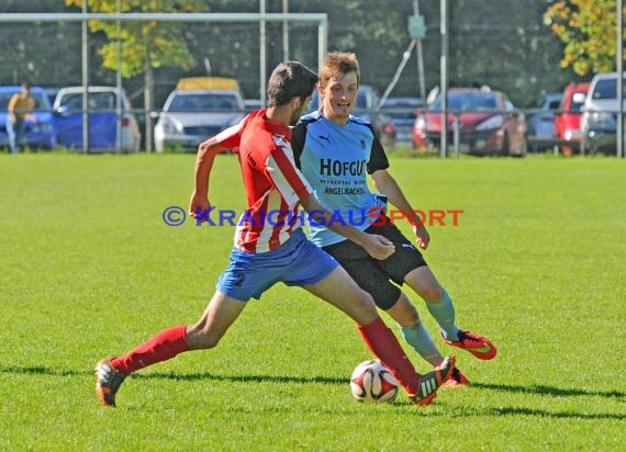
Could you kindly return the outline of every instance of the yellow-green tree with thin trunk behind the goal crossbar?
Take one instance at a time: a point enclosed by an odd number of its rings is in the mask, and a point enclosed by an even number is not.
[[[119,0],[88,0],[90,12],[118,12]],[[68,7],[82,7],[83,0],[65,0]],[[209,7],[195,0],[120,0],[121,12],[206,12]],[[146,148],[152,148],[152,117],[154,108],[154,69],[163,66],[188,70],[195,66],[189,50],[185,31],[180,24],[170,22],[122,22],[120,27],[113,21],[89,21],[92,33],[102,32],[109,39],[98,50],[102,66],[118,69],[118,49],[121,48],[122,77],[131,78],[144,74],[144,110],[146,124]],[[121,45],[119,45],[121,43]]]

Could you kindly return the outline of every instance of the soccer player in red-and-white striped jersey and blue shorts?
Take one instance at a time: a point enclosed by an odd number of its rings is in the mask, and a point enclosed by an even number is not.
[[[215,347],[249,298],[260,298],[277,282],[301,286],[350,316],[369,349],[387,364],[415,404],[428,405],[449,377],[454,355],[432,372],[418,375],[379,317],[371,296],[302,231],[300,205],[316,221],[327,224],[332,218],[295,168],[289,144],[289,125],[305,110],[316,82],[315,72],[300,63],[279,65],[268,83],[269,108],[250,113],[238,125],[200,145],[189,210],[201,221],[210,210],[209,179],[215,156],[235,149],[239,157],[248,210],[235,234],[231,263],[195,324],[168,328],[123,355],[98,362],[96,392],[102,404],[115,405],[118,389],[131,373],[181,352]],[[277,214],[271,221],[267,218],[269,212]],[[375,259],[385,259],[394,251],[394,246],[381,236],[340,224],[333,228]]]

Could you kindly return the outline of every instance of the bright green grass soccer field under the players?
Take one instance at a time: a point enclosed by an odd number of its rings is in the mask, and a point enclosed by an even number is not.
[[[284,285],[216,349],[146,369],[100,406],[94,362],[193,323],[227,264],[232,227],[161,218],[187,207],[193,161],[0,155],[0,450],[624,450],[626,161],[613,158],[392,158],[415,207],[463,210],[429,228],[426,257],[458,325],[499,347],[488,362],[457,351],[471,386],[427,408],[354,402],[349,375],[370,358],[354,324]],[[232,156],[211,194],[244,208]]]

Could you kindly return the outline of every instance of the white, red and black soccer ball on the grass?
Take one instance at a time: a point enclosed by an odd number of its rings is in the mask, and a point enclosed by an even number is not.
[[[398,396],[399,384],[383,363],[369,360],[355,368],[350,377],[350,389],[358,402],[392,403]]]

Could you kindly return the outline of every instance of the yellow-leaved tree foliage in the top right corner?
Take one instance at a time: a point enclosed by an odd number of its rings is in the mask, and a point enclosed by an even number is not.
[[[544,21],[566,45],[561,67],[580,76],[615,68],[615,0],[560,0],[544,14]]]

